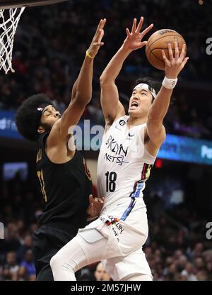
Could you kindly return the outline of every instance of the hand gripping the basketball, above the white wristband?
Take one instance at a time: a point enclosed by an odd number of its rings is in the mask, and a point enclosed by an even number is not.
[[[179,48],[177,41],[175,42],[175,57],[172,52],[171,44],[168,44],[169,59],[165,55],[165,51],[162,50],[163,60],[165,62],[165,77],[168,79],[176,79],[179,72],[182,71],[184,65],[189,60],[189,57],[185,57],[186,45],[182,45],[182,50],[179,55]]]

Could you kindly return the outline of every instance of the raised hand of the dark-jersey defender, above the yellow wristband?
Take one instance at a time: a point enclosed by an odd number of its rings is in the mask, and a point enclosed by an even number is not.
[[[93,40],[90,44],[90,47],[88,48],[88,54],[91,57],[95,57],[95,55],[97,55],[100,46],[104,45],[104,43],[102,42],[102,38],[104,36],[104,26],[106,23],[106,18],[101,19],[98,28],[95,32],[95,35],[93,37]]]

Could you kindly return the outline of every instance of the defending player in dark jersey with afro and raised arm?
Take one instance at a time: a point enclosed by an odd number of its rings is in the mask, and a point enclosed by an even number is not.
[[[38,142],[37,177],[44,207],[33,235],[37,280],[53,280],[49,265],[52,256],[102,208],[104,198],[90,195],[90,173],[81,152],[76,150],[71,126],[78,123],[92,96],[93,58],[103,45],[105,21],[100,21],[86,51],[64,114],[60,115],[45,94],[26,99],[16,114],[20,134]]]

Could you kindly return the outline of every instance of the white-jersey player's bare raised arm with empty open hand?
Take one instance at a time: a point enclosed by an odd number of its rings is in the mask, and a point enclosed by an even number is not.
[[[136,26],[136,18],[134,18],[131,32],[128,28],[126,28],[127,36],[122,47],[118,50],[116,55],[112,57],[112,60],[110,60],[100,77],[101,105],[106,125],[111,125],[116,118],[125,114],[124,107],[119,101],[119,92],[115,84],[115,80],[122,69],[122,65],[124,60],[126,60],[126,57],[128,57],[132,51],[146,45],[146,41],[142,41],[142,39],[143,36],[146,35],[151,28],[153,28],[153,24],[140,33],[142,25],[143,17],[141,17],[138,26]]]

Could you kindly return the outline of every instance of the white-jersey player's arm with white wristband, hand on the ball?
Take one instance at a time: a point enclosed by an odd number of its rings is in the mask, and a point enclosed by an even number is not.
[[[175,42],[175,57],[173,56],[170,44],[168,45],[168,52],[169,58],[167,58],[165,52],[162,51],[163,60],[165,62],[165,79],[163,80],[163,86],[148,111],[147,133],[150,138],[149,144],[151,145],[152,155],[158,152],[158,148],[165,140],[163,119],[165,118],[170,105],[172,91],[177,83],[177,76],[184,68],[187,60],[189,60],[189,57],[184,57],[185,45],[182,46],[180,55],[177,42]]]

